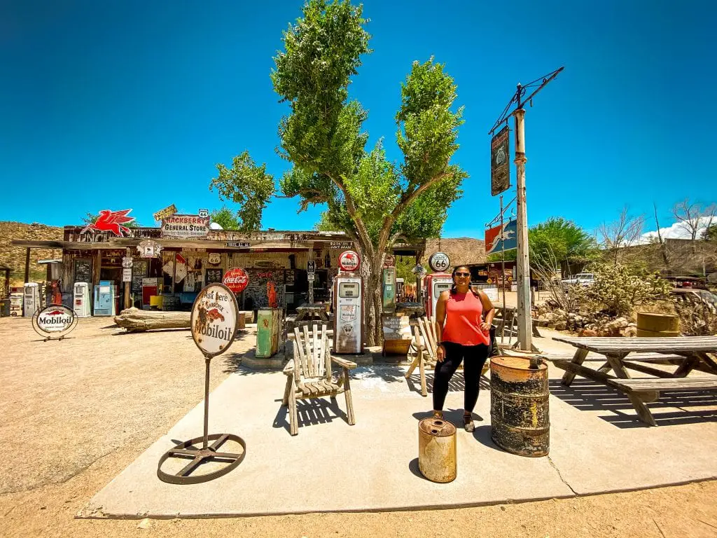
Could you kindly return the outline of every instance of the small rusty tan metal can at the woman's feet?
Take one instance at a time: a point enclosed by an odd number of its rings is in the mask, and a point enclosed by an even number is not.
[[[457,476],[455,426],[442,418],[418,423],[418,468],[433,482],[450,482]]]

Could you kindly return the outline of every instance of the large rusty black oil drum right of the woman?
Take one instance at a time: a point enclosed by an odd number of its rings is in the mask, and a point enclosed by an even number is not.
[[[550,450],[548,366],[540,358],[491,357],[490,438],[510,453],[537,458]]]

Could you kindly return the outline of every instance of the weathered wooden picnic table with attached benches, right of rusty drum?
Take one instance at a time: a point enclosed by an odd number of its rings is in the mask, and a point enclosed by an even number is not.
[[[564,369],[562,383],[569,386],[576,375],[614,387],[624,392],[643,422],[655,426],[647,402],[655,402],[661,391],[717,390],[717,336],[679,336],[675,338],[571,338],[554,337],[576,347],[571,360],[545,357]],[[597,370],[583,366],[592,351],[604,355],[606,362]],[[673,372],[657,369],[642,362],[661,362],[677,366]],[[713,374],[709,377],[687,377],[693,370]],[[614,375],[608,372],[614,373]],[[628,370],[652,377],[632,379]]]

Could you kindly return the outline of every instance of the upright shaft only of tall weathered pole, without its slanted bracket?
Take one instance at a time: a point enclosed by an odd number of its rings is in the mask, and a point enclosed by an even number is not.
[[[526,209],[526,111],[521,107],[521,85],[518,85],[518,109],[516,115],[516,202],[518,207],[518,252],[516,256],[516,280],[518,280],[518,346],[523,351],[533,347],[531,327],[531,275],[528,255],[528,212]]]

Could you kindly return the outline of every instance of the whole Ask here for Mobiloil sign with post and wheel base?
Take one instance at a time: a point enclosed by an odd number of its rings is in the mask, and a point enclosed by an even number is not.
[[[177,484],[206,482],[232,471],[246,456],[247,445],[238,435],[209,435],[209,362],[212,357],[227,351],[234,342],[238,317],[237,298],[227,286],[212,283],[196,296],[191,307],[191,337],[199,351],[204,354],[204,435],[179,443],[163,454],[157,466],[157,476],[161,481]],[[209,445],[209,441],[213,443]],[[227,442],[240,448],[239,453],[219,451]],[[189,463],[181,468],[175,466],[179,468],[176,472],[162,471],[162,464],[170,458],[174,461],[189,460]],[[210,467],[214,470],[192,475],[202,463],[213,463]]]

